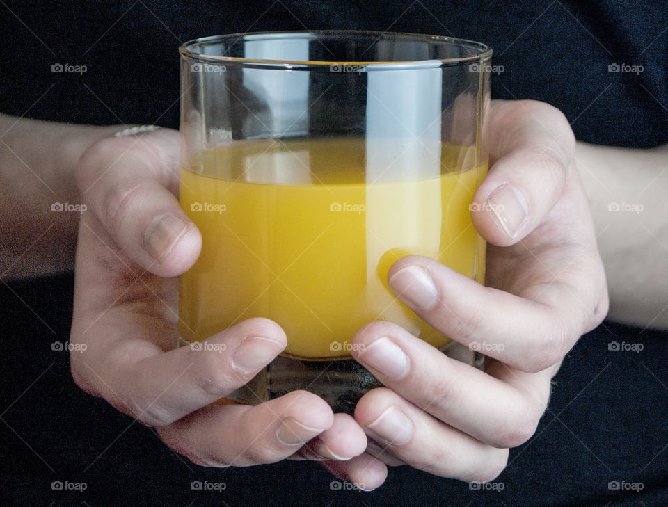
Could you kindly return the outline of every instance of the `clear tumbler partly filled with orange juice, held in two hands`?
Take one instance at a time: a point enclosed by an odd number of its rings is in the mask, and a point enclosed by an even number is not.
[[[471,364],[402,305],[388,269],[426,255],[484,283],[470,204],[487,171],[491,49],[434,35],[244,33],[180,48],[180,202],[202,252],[180,277],[180,345],[250,317],[287,348],[231,401],[308,389],[352,412],[379,383],[354,360],[393,321]]]

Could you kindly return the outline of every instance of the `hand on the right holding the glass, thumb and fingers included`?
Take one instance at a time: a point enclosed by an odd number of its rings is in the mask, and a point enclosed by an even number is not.
[[[472,214],[490,243],[487,287],[415,255],[388,273],[392,291],[417,315],[484,352],[485,369],[452,360],[392,323],[361,328],[353,356],[386,387],[356,406],[369,446],[366,455],[335,465],[340,476],[365,482],[364,474],[381,477],[385,464],[408,464],[491,481],[507,464],[508,448],[535,432],[564,355],[607,313],[566,118],[541,102],[494,101],[489,134],[493,165]]]

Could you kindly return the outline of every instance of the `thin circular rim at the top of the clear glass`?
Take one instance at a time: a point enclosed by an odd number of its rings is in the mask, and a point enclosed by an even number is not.
[[[236,39],[232,45],[240,40],[272,40],[272,39],[321,39],[325,37],[344,39],[347,35],[358,35],[375,38],[372,45],[382,38],[394,38],[403,40],[416,40],[423,42],[440,42],[443,45],[459,45],[468,47],[475,54],[460,56],[456,58],[433,58],[429,60],[407,60],[407,61],[299,61],[299,60],[273,60],[263,58],[239,58],[234,56],[218,56],[203,54],[193,48],[206,47],[219,44],[224,40]],[[371,45],[369,45],[371,47]],[[210,35],[184,42],[179,47],[179,53],[183,59],[198,63],[211,63],[214,65],[232,65],[239,67],[260,67],[280,70],[316,70],[324,67],[329,69],[332,65],[358,66],[369,70],[408,70],[422,68],[452,67],[482,62],[491,58],[492,49],[482,42],[475,40],[447,37],[445,35],[427,35],[423,33],[407,32],[381,32],[370,30],[297,30],[297,31],[263,31],[230,33],[228,35]]]

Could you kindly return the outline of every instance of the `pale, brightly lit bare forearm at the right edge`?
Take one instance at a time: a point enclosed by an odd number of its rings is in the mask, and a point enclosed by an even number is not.
[[[629,150],[579,143],[610,288],[610,319],[668,329],[668,146]]]

